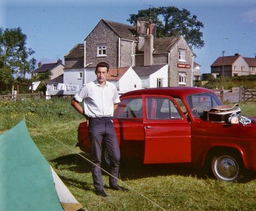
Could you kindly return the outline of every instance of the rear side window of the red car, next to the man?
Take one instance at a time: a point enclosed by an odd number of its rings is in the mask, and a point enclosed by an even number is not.
[[[118,104],[114,118],[142,118],[142,98],[127,98]]]

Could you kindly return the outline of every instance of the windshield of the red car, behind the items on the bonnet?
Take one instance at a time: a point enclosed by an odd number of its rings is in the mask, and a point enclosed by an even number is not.
[[[195,117],[201,117],[204,115],[205,110],[222,105],[220,99],[213,93],[189,95],[187,97],[187,102]]]

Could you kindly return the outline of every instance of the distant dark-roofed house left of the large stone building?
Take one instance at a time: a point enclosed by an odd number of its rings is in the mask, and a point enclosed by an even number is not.
[[[38,63],[38,68],[34,70],[34,74],[41,74],[51,71],[50,80],[63,74],[64,65],[62,64],[61,59],[58,59],[56,63],[47,63],[42,65],[41,61]]]

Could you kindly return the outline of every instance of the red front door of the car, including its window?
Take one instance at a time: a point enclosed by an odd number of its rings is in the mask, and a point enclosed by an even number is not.
[[[191,125],[175,100],[143,95],[145,164],[191,162]]]

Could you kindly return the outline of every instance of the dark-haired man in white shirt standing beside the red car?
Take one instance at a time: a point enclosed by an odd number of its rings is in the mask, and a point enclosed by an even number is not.
[[[88,132],[91,141],[92,154],[92,176],[95,192],[98,196],[107,196],[103,188],[102,175],[100,171],[101,145],[104,141],[111,160],[109,187],[116,191],[127,191],[118,185],[118,169],[120,162],[120,150],[113,125],[113,113],[120,102],[115,84],[106,81],[109,65],[100,62],[96,66],[95,74],[97,80],[89,82],[76,93],[71,105],[86,119],[89,120]],[[84,107],[79,102],[83,101]]]

